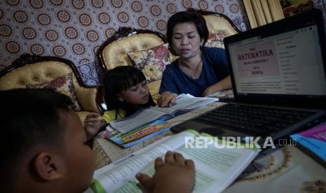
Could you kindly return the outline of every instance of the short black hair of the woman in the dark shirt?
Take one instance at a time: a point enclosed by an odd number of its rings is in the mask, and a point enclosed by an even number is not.
[[[187,22],[195,24],[199,36],[201,37],[201,39],[203,39],[203,45],[205,45],[208,39],[209,31],[203,15],[191,11],[180,11],[172,15],[168,20],[166,36],[168,38],[170,51],[174,52],[171,45],[172,45],[172,34],[175,25],[180,23],[187,23]]]

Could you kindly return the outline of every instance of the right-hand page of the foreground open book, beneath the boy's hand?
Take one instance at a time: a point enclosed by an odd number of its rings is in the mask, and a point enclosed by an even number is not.
[[[238,148],[185,148],[176,150],[186,159],[192,159],[196,167],[196,183],[193,192],[222,192],[235,180],[254,159],[259,150]],[[142,173],[153,176],[154,164],[144,169]],[[115,192],[142,192],[137,180],[128,180]]]

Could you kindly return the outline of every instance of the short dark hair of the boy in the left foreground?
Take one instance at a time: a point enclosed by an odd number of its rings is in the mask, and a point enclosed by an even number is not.
[[[62,144],[64,113],[73,109],[68,96],[54,90],[17,89],[0,91],[1,178],[14,184],[17,166],[37,146]]]

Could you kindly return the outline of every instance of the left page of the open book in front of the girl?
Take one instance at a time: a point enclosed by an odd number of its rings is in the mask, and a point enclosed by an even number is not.
[[[111,121],[112,128],[118,130],[121,134],[126,134],[133,131],[137,127],[142,127],[149,122],[157,120],[158,118],[166,115],[165,112],[153,110],[152,108],[146,108],[144,110],[137,111],[135,114],[125,117],[122,120]]]

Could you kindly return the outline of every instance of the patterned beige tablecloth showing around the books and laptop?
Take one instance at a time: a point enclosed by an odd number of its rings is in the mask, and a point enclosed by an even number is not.
[[[225,92],[224,92],[225,93]],[[225,103],[211,103],[200,109],[178,115],[168,122],[173,125],[189,120]],[[159,139],[172,134],[165,131],[154,138],[123,149],[111,143],[101,134],[95,138],[96,169],[111,164],[126,155],[140,150]],[[322,192],[326,191],[326,169],[295,146],[285,146],[257,159],[247,167],[224,192]]]

